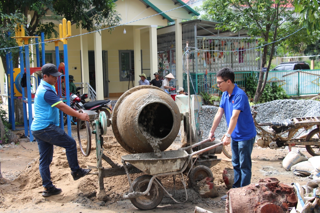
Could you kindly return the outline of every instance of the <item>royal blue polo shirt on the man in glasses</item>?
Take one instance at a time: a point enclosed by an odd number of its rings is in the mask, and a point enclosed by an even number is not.
[[[232,111],[241,110],[236,127],[231,134],[233,140],[247,141],[256,136],[256,127],[253,123],[248,97],[236,84],[230,97],[227,91],[222,93],[220,107],[224,109],[228,127]]]

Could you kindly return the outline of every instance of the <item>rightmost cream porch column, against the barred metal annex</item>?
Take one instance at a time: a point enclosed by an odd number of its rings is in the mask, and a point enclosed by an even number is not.
[[[183,87],[183,70],[182,70],[182,24],[181,19],[175,21],[175,40],[176,40],[176,79],[177,88]]]

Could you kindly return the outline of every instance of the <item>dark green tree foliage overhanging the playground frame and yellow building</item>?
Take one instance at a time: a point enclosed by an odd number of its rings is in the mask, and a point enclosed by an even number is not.
[[[28,36],[44,32],[46,39],[53,35],[58,37],[55,23],[60,22],[63,17],[71,20],[77,27],[81,24],[81,27],[88,31],[98,30],[102,25],[114,26],[121,20],[115,7],[113,0],[0,1],[0,48],[16,46],[14,39],[9,39],[7,34],[10,32],[11,36],[14,36],[14,27],[17,24],[25,26]],[[18,49],[10,51],[16,53]],[[4,50],[0,50],[0,55],[5,64]],[[5,66],[4,69],[6,71]]]

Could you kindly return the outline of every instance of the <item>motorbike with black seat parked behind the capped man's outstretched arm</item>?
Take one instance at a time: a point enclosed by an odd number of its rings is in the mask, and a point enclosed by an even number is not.
[[[101,111],[103,111],[106,113],[106,116],[108,119],[111,118],[112,107],[111,107],[111,101],[109,99],[101,100],[101,101],[86,102],[85,99],[88,96],[85,96],[85,94],[86,93],[84,93],[81,97],[78,97],[77,95],[70,93],[70,107],[76,111],[79,111],[80,109],[91,110],[91,111],[97,112],[98,114]],[[86,94],[86,95],[88,95],[88,94]],[[83,100],[81,99],[82,97],[84,97]],[[64,125],[67,125],[67,115],[66,114],[63,114],[63,122],[64,122]],[[77,118],[72,117],[71,122],[76,125]]]

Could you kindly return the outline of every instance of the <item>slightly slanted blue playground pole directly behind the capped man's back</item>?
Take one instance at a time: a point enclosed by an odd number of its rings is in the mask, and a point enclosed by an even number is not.
[[[29,110],[29,138],[30,142],[33,141],[33,135],[31,133],[32,124],[32,96],[31,96],[31,80],[30,80],[30,61],[29,61],[29,46],[24,46],[25,58],[26,58],[26,74],[27,74],[27,94],[28,94],[28,110]]]

